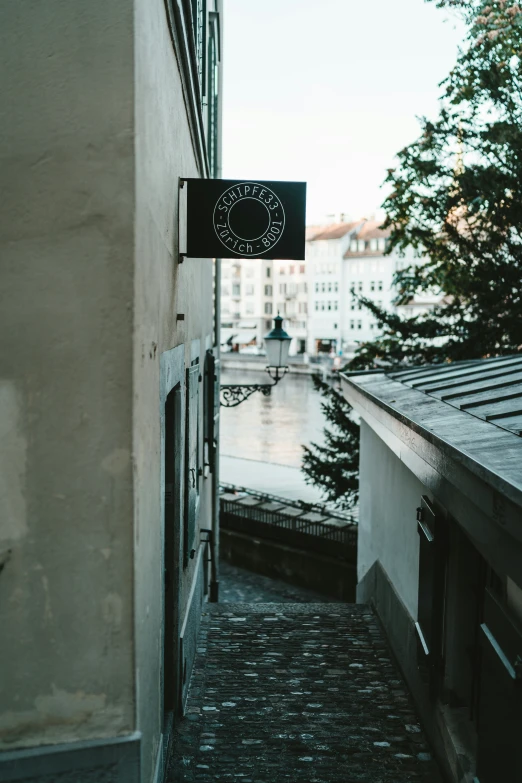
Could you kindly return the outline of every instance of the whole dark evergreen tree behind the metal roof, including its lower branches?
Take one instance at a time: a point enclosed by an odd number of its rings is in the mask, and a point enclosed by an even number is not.
[[[382,334],[346,369],[434,363],[522,350],[522,9],[512,0],[428,0],[456,9],[465,45],[443,82],[435,121],[398,154],[387,182],[388,253],[413,248],[420,263],[394,279],[397,305],[440,292],[429,313],[402,318],[359,297]],[[344,507],[357,497],[358,434],[350,406],[325,384],[326,446],[305,450],[303,470]]]

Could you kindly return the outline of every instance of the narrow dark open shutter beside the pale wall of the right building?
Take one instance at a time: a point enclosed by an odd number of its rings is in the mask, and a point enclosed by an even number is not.
[[[429,498],[417,509],[419,533],[419,593],[417,661],[430,696],[437,695],[442,675],[442,629],[446,585],[446,521],[437,516]]]

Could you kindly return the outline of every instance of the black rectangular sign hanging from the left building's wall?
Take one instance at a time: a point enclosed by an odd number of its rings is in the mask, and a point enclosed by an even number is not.
[[[185,181],[189,258],[304,260],[305,182]]]

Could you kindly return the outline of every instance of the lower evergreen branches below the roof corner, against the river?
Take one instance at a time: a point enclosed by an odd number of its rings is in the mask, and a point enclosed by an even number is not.
[[[323,395],[321,408],[330,426],[324,430],[325,445],[303,447],[305,481],[320,487],[326,500],[350,509],[359,497],[359,425],[344,397],[319,375],[313,382]]]

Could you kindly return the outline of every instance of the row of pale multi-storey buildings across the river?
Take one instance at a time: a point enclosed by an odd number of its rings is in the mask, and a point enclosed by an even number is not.
[[[420,315],[441,300],[423,294],[397,306],[396,271],[422,263],[409,249],[385,255],[390,229],[361,218],[309,226],[305,261],[222,262],[221,343],[225,350],[263,350],[264,335],[280,313],[292,336],[290,355],[353,356],[358,344],[380,334],[375,316],[358,297],[402,317]]]

